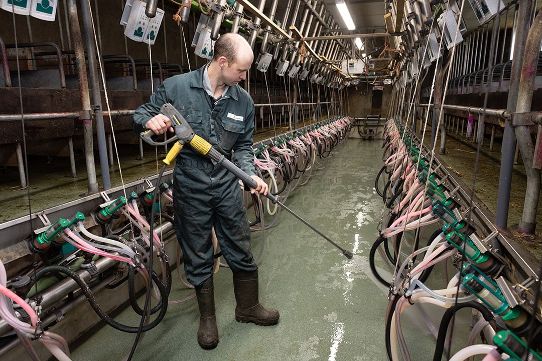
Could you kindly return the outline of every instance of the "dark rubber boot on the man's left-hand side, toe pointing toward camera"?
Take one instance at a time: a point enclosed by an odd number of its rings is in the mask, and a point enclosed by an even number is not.
[[[213,349],[218,344],[218,328],[215,316],[215,294],[212,276],[201,286],[195,286],[199,306],[198,344],[203,349]]]

